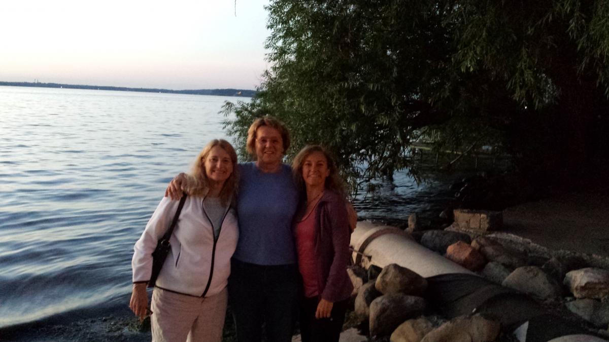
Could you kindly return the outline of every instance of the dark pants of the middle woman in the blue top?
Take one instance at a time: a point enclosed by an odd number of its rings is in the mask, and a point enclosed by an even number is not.
[[[290,342],[298,313],[298,267],[264,266],[232,260],[228,300],[237,340]]]

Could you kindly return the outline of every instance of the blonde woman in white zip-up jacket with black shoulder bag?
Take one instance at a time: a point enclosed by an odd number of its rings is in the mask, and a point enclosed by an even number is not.
[[[231,204],[238,178],[237,155],[222,139],[209,142],[185,176],[188,197],[152,293],[153,341],[222,340],[230,259],[239,236]],[[130,308],[140,319],[147,311],[151,254],[177,208],[178,201],[164,197],[135,243]]]

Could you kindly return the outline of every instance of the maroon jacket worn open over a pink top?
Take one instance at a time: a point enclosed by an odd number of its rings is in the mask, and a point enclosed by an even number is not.
[[[345,201],[325,190],[315,210],[315,259],[320,297],[339,302],[351,296],[353,284],[347,274],[351,229]]]

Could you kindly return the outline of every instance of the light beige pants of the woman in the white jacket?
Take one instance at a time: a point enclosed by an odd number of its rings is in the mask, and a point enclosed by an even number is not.
[[[200,298],[155,287],[150,305],[152,342],[222,341],[227,301],[227,288]]]

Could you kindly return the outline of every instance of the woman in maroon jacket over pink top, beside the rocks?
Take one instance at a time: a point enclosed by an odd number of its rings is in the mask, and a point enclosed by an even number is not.
[[[303,278],[302,341],[338,341],[353,291],[347,274],[351,230],[342,180],[334,160],[319,145],[303,148],[292,170],[303,194],[294,229]]]

